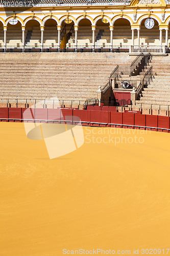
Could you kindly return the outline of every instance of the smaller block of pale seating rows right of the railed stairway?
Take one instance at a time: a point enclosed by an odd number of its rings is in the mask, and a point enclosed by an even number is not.
[[[154,56],[152,58],[154,78],[140,94],[136,103],[153,105],[170,105],[170,56]]]

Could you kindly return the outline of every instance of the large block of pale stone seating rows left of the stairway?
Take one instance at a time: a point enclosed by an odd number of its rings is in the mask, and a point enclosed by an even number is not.
[[[134,56],[121,53],[24,53],[1,58],[0,102],[7,98],[48,99],[65,102],[96,98],[117,64],[130,65]],[[6,58],[3,58],[6,57]],[[8,58],[9,57],[9,58]]]

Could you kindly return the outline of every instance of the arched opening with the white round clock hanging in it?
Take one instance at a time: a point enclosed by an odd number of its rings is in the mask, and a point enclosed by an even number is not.
[[[152,29],[147,29],[144,26],[145,20],[143,19],[140,27],[140,45],[160,45],[159,41],[159,26],[156,19],[154,19],[155,25]],[[164,30],[162,31],[162,42],[165,42]]]

